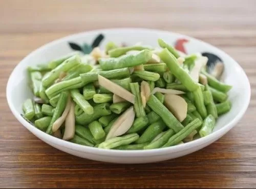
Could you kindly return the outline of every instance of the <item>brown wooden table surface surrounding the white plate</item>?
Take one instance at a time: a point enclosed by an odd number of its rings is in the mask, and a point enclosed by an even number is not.
[[[6,83],[31,51],[100,28],[174,31],[216,45],[249,77],[252,95],[239,124],[193,154],[153,164],[81,159],[43,143],[12,115]],[[256,2],[0,1],[0,187],[255,187]],[[18,95],[18,94],[17,94]]]

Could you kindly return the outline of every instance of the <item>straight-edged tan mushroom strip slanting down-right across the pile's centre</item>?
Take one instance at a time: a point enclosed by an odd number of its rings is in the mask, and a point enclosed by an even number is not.
[[[108,89],[109,91],[113,92],[119,97],[134,104],[135,96],[130,91],[100,75],[98,75],[98,81],[100,86],[104,87],[105,89]]]

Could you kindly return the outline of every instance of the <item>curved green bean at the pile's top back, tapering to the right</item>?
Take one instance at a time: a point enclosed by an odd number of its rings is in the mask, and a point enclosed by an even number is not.
[[[135,46],[124,46],[121,48],[115,48],[113,50],[110,50],[108,53],[110,55],[110,57],[120,57],[121,55],[124,55],[125,53],[129,52],[129,51],[142,51],[142,50],[151,50],[150,48],[147,48],[146,46],[139,46],[139,45],[135,45]]]

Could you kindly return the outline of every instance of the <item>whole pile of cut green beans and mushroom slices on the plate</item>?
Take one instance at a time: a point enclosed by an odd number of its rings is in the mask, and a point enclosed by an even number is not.
[[[164,148],[210,134],[231,108],[231,86],[207,72],[206,56],[158,44],[109,42],[104,51],[28,67],[35,98],[24,102],[24,118],[55,137],[103,149]]]

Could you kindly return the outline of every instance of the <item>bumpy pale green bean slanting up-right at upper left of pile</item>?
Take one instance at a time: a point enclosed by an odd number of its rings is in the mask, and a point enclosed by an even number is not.
[[[47,77],[44,77],[42,79],[42,85],[44,85],[45,87],[50,86],[59,77],[59,74],[61,72],[67,72],[69,69],[78,65],[80,62],[81,62],[80,57],[76,55],[66,59],[57,67],[52,69],[50,74],[47,75]]]

